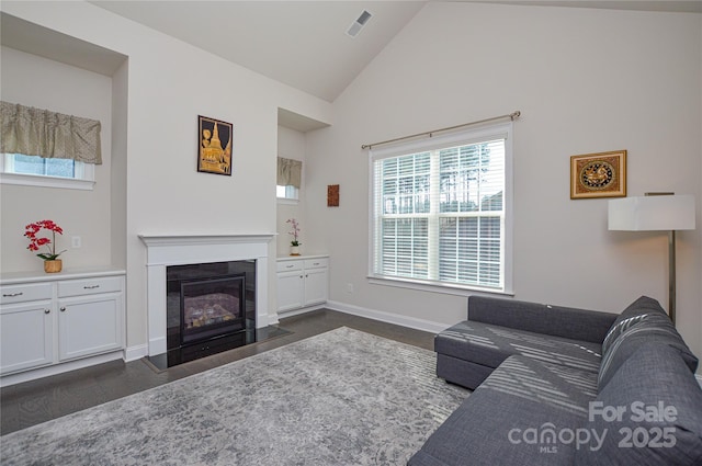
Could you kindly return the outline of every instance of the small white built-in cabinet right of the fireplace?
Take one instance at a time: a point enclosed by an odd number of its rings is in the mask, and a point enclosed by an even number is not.
[[[327,302],[329,257],[301,255],[278,259],[278,312],[290,312]]]

